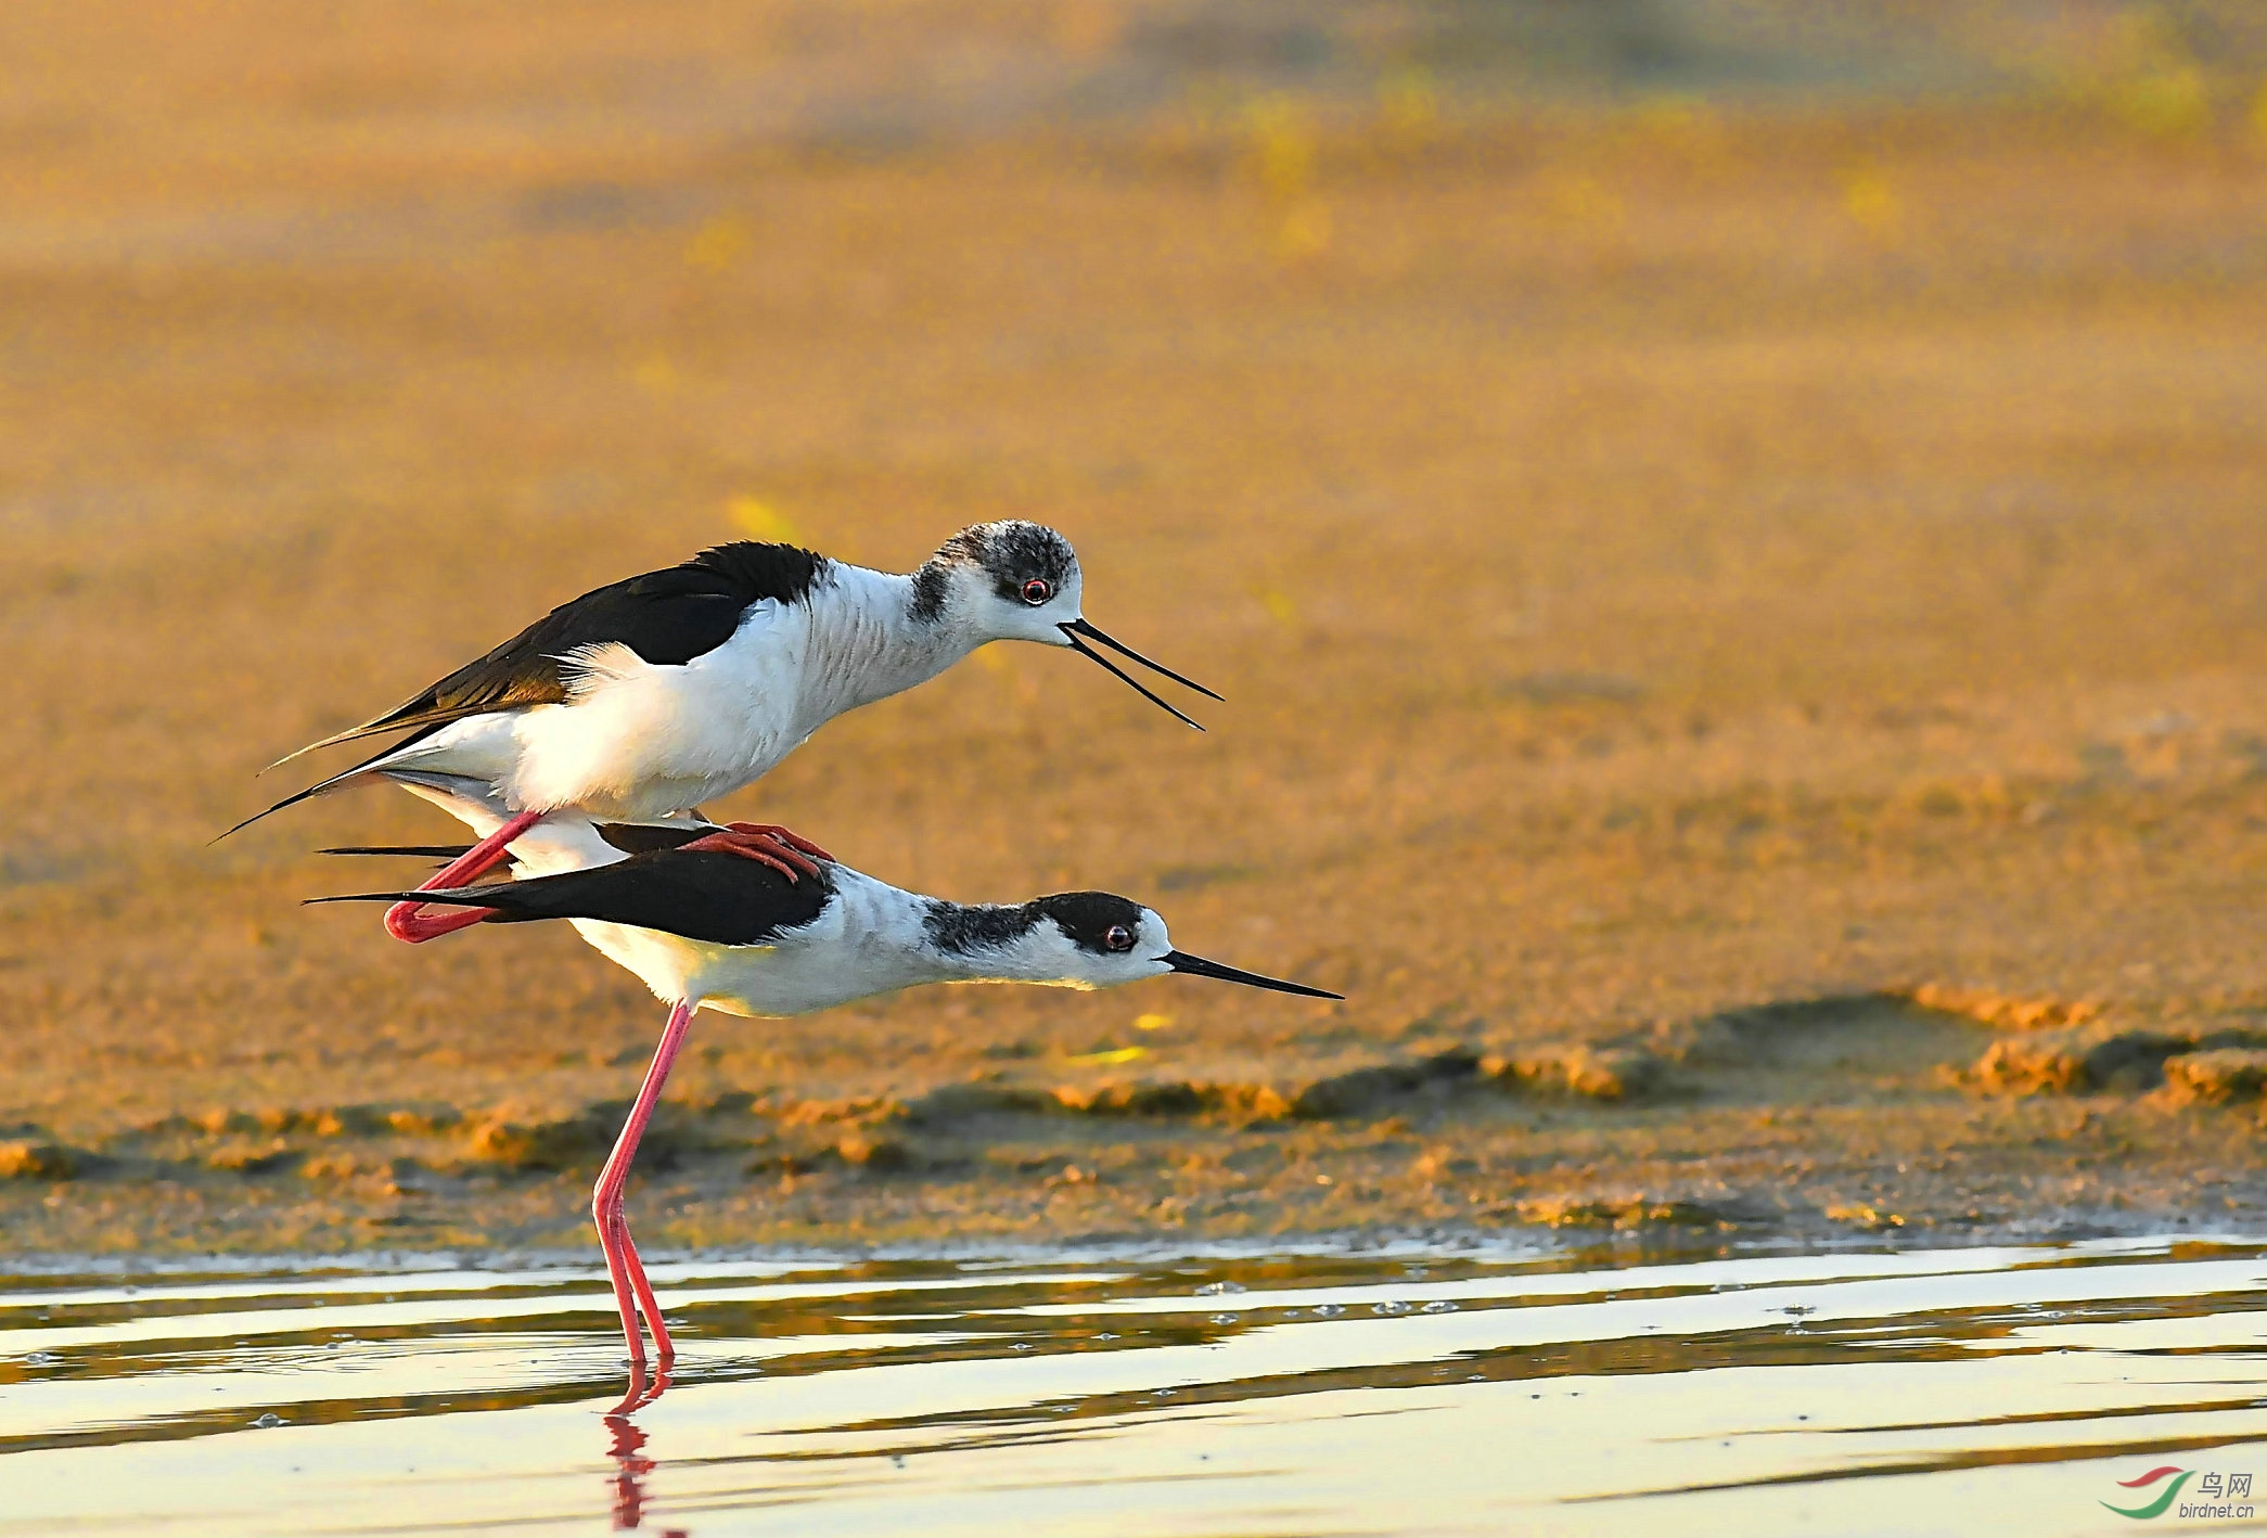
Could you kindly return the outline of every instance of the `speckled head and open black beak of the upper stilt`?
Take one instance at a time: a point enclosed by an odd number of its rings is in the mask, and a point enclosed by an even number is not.
[[[961,529],[914,572],[916,619],[950,626],[966,635],[973,647],[995,640],[1070,647],[1124,678],[1152,703],[1197,726],[1088,642],[1099,642],[1199,694],[1220,696],[1104,635],[1088,624],[1079,608],[1081,599],[1079,553],[1070,549],[1070,540],[1045,524],[1022,519]]]

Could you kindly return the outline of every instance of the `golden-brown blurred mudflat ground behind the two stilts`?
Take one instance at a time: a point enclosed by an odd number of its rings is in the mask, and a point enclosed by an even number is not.
[[[995,647],[712,810],[1351,998],[703,1023],[676,1102],[748,1125],[655,1232],[1952,1214],[1907,1141],[2106,1116],[2167,1205],[2256,1182],[2154,1080],[1970,1064],[2267,1046],[2256,7],[27,0],[0,50],[11,1243],[569,1232],[635,980],[302,912],[376,885],[315,846],[453,837],[401,794],[209,839],[585,588],[993,517],[1211,733]],[[1693,1043],[1836,1000],[1920,1046],[1773,1057],[1848,1114],[1757,1134]],[[1684,1089],[1542,1093],[1632,1041]],[[1444,1053],[1487,1087],[1251,1109]],[[1016,1109],[1113,1084],[1199,1112]]]

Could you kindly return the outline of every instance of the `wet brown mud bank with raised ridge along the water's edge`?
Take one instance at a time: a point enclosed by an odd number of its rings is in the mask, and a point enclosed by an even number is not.
[[[1428,1034],[1306,1073],[1143,1059],[666,1100],[632,1214],[678,1248],[1528,1227],[1963,1243],[2267,1220],[2267,1016],[2244,1009],[2138,1021],[1922,985],[1587,1039]],[[215,1107],[77,1141],[20,1123],[0,1218],[52,1252],[574,1243],[626,1105]]]

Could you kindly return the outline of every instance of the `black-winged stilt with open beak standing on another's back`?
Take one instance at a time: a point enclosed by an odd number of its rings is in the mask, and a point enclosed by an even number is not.
[[[512,817],[428,882],[453,887],[501,864],[546,812],[635,821],[739,789],[837,715],[995,640],[1070,647],[1197,726],[1088,642],[1220,696],[1097,631],[1081,597],[1070,540],[1027,522],[963,529],[909,574],[791,544],[719,544],[585,592],[394,710],[299,749],[410,733],[238,828],[372,776],[485,785]],[[784,876],[816,873],[825,851],[784,828],[766,833],[775,837],[746,842],[746,857]],[[404,901],[385,928],[422,941],[478,919],[428,916]]]

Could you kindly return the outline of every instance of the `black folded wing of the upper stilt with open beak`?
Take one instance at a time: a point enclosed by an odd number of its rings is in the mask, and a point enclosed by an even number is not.
[[[825,556],[793,544],[744,540],[705,549],[666,572],[594,588],[385,715],[299,753],[413,726],[444,726],[490,710],[555,705],[567,699],[564,658],[583,647],[621,644],[653,665],[691,662],[730,640],[755,603],[800,603],[823,569]]]

